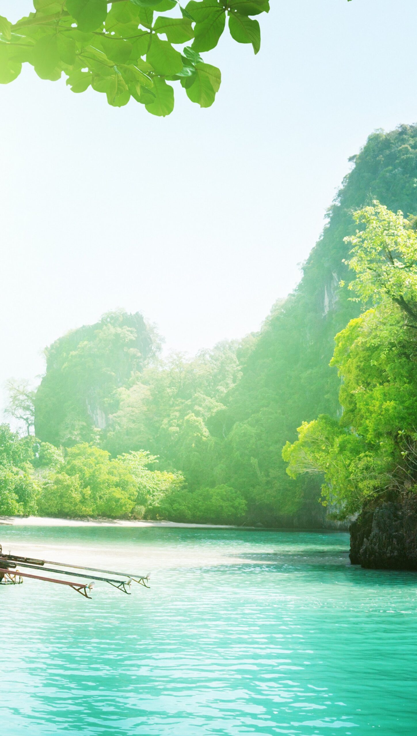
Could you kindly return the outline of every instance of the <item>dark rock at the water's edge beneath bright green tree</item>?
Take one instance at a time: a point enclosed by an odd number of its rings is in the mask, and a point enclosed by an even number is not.
[[[365,510],[349,531],[352,565],[417,570],[417,498],[388,501]]]

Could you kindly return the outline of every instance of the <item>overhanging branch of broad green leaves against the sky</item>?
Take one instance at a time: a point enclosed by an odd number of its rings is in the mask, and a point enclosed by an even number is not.
[[[226,15],[231,37],[259,52],[259,23],[249,16],[269,11],[267,0],[192,0],[186,8],[176,0],[33,0],[33,6],[35,13],[15,24],[0,16],[1,84],[29,63],[41,79],[64,73],[75,93],[91,86],[113,107],[134,99],[156,116],[174,108],[168,82],[181,82],[200,107],[212,105],[220,70],[198,52],[217,46]],[[176,15],[165,15],[171,11]]]

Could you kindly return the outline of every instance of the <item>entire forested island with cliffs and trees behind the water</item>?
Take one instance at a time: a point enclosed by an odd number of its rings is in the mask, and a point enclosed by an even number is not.
[[[417,127],[374,132],[351,163],[259,333],[161,358],[155,328],[116,311],[46,348],[35,391],[10,382],[26,430],[1,425],[0,513],[293,528],[361,514],[352,562],[417,567]]]

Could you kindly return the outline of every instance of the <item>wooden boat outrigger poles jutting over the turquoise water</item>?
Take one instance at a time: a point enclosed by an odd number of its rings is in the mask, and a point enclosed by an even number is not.
[[[54,565],[54,567],[46,567],[46,565]],[[39,570],[45,573],[57,573],[58,575],[71,576],[71,578],[83,578],[83,581],[77,580],[61,580],[60,578],[47,578],[43,575],[35,575],[34,573],[22,572],[21,567],[29,570]],[[56,569],[56,568],[66,569]],[[76,573],[74,570],[84,570],[83,573]],[[91,573],[102,573],[100,576]],[[108,577],[108,576],[114,577]],[[130,586],[132,583],[138,583],[145,588],[149,588],[148,582],[150,575],[131,575],[128,573],[120,573],[115,570],[101,570],[99,567],[84,567],[83,565],[70,565],[67,562],[52,562],[48,559],[34,559],[32,557],[24,557],[11,553],[4,553],[0,545],[0,584],[1,585],[18,585],[23,583],[24,578],[32,578],[34,580],[42,580],[57,585],[66,585],[76,592],[84,595],[85,598],[91,598],[91,590],[96,581],[108,583],[116,590],[130,595]],[[120,579],[122,578],[122,579]]]

